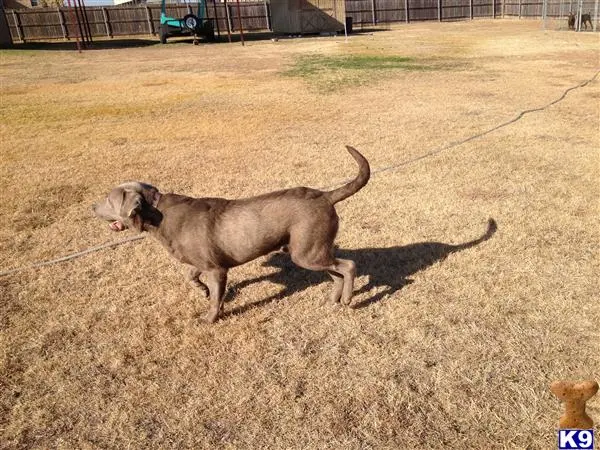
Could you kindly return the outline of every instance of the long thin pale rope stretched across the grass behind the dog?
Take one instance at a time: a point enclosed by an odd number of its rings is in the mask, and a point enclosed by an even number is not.
[[[553,101],[551,101],[550,103],[548,103],[548,104],[546,104],[544,106],[540,106],[539,108],[526,109],[525,111],[521,111],[519,114],[517,114],[513,119],[508,120],[506,122],[503,122],[503,123],[501,123],[499,125],[496,125],[495,127],[492,127],[492,128],[490,128],[490,129],[488,129],[486,131],[482,131],[481,133],[474,134],[474,135],[469,136],[468,138],[462,139],[460,141],[451,142],[448,145],[445,145],[443,147],[437,148],[437,149],[432,150],[432,151],[430,151],[428,153],[425,153],[423,155],[417,156],[416,158],[408,159],[408,160],[399,162],[397,164],[392,164],[392,165],[387,166],[387,167],[381,167],[379,169],[372,170],[371,174],[372,175],[376,175],[378,173],[387,172],[387,171],[390,171],[390,170],[398,169],[398,168],[403,167],[403,166],[407,166],[409,164],[412,164],[412,163],[421,161],[423,159],[435,156],[435,155],[437,155],[439,153],[442,153],[442,152],[444,152],[446,150],[450,150],[452,148],[455,148],[455,147],[458,147],[460,145],[466,144],[467,142],[473,141],[475,139],[479,139],[479,138],[481,138],[483,136],[486,136],[486,135],[488,135],[488,134],[490,134],[490,133],[492,133],[494,131],[497,131],[497,130],[499,130],[501,128],[504,128],[504,127],[507,127],[509,125],[512,125],[513,123],[518,122],[519,120],[521,120],[526,114],[531,114],[531,113],[534,113],[534,112],[544,111],[545,109],[548,109],[549,107],[551,107],[551,106],[557,104],[558,102],[564,100],[565,97],[567,96],[567,94],[569,92],[571,92],[571,91],[573,91],[575,89],[579,89],[579,88],[587,86],[588,84],[590,84],[593,81],[595,81],[596,78],[598,78],[598,75],[600,75],[600,70],[597,71],[594,74],[594,76],[592,78],[590,78],[589,80],[582,81],[581,83],[579,83],[579,84],[577,84],[575,86],[572,86],[572,87],[566,89],[562,93],[562,95],[560,97],[558,97],[556,100],[553,100]],[[349,178],[349,179],[344,180],[342,182],[336,183],[335,185],[332,185],[332,186],[321,187],[319,189],[321,189],[321,190],[332,189],[332,188],[334,188],[336,186],[345,184],[345,183],[347,183],[347,182],[349,182],[351,180],[353,180],[353,178]],[[82,250],[82,251],[77,252],[77,253],[71,253],[70,255],[66,255],[66,256],[63,256],[61,258],[51,259],[49,261],[41,261],[41,262],[37,262],[37,263],[31,264],[29,266],[17,267],[15,269],[6,270],[6,271],[3,271],[3,272],[0,272],[0,277],[4,277],[6,275],[11,275],[11,274],[17,273],[17,272],[23,272],[23,271],[29,270],[29,269],[36,269],[38,267],[49,266],[49,265],[52,265],[52,264],[58,264],[58,263],[61,263],[61,262],[70,261],[72,259],[80,258],[82,256],[88,255],[90,253],[94,253],[94,252],[97,252],[97,251],[100,251],[100,250],[104,250],[105,248],[114,248],[114,247],[117,247],[119,245],[126,244],[128,242],[139,241],[139,240],[142,240],[142,239],[145,239],[145,238],[146,238],[146,235],[131,236],[129,238],[122,239],[120,241],[108,242],[106,244],[102,244],[102,245],[99,245],[97,247],[91,247],[91,248],[88,248],[86,250]]]

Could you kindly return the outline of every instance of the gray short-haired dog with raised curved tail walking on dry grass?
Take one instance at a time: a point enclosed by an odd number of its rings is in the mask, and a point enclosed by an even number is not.
[[[223,307],[227,271],[279,248],[292,261],[310,270],[327,271],[334,281],[330,300],[348,305],[354,290],[356,266],[335,258],[338,230],[335,205],[369,181],[369,163],[347,146],[358,163],[358,176],[333,191],[297,187],[239,200],[192,198],[161,194],[139,182],[114,188],[93,209],[110,221],[113,231],[147,231],[177,260],[189,266],[187,279],[205,286],[210,307],[204,319],[217,320]],[[206,284],[199,276],[204,273]]]

